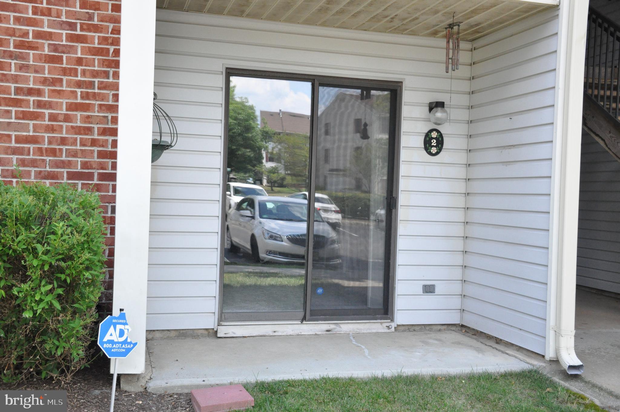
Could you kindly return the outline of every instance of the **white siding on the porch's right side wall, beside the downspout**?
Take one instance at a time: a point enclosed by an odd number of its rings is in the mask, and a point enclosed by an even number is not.
[[[474,41],[463,324],[544,353],[557,10]]]

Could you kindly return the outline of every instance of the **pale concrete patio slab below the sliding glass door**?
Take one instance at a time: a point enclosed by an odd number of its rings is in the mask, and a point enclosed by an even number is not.
[[[151,392],[322,376],[502,372],[531,367],[451,331],[148,341]]]

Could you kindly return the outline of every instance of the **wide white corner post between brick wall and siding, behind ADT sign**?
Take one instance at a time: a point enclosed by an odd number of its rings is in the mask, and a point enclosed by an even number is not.
[[[146,274],[151,197],[155,1],[121,10],[113,315],[126,312],[138,346],[118,361],[119,374],[144,372]]]

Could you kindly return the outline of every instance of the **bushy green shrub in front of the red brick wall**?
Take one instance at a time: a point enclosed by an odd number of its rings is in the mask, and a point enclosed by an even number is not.
[[[104,275],[96,193],[0,182],[2,380],[68,379],[89,362]]]

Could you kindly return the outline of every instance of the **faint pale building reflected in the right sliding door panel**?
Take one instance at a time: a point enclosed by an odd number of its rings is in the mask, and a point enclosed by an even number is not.
[[[317,190],[386,192],[389,92],[347,89],[319,114]]]

